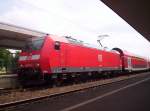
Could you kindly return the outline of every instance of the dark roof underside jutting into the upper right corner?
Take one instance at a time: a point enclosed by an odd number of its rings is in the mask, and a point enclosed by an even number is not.
[[[101,0],[150,41],[150,3],[148,0]]]

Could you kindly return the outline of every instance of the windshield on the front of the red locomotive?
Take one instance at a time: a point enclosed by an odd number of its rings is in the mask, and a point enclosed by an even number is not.
[[[43,38],[32,40],[31,42],[28,42],[26,44],[25,51],[40,50],[43,46],[43,42],[44,42]]]

